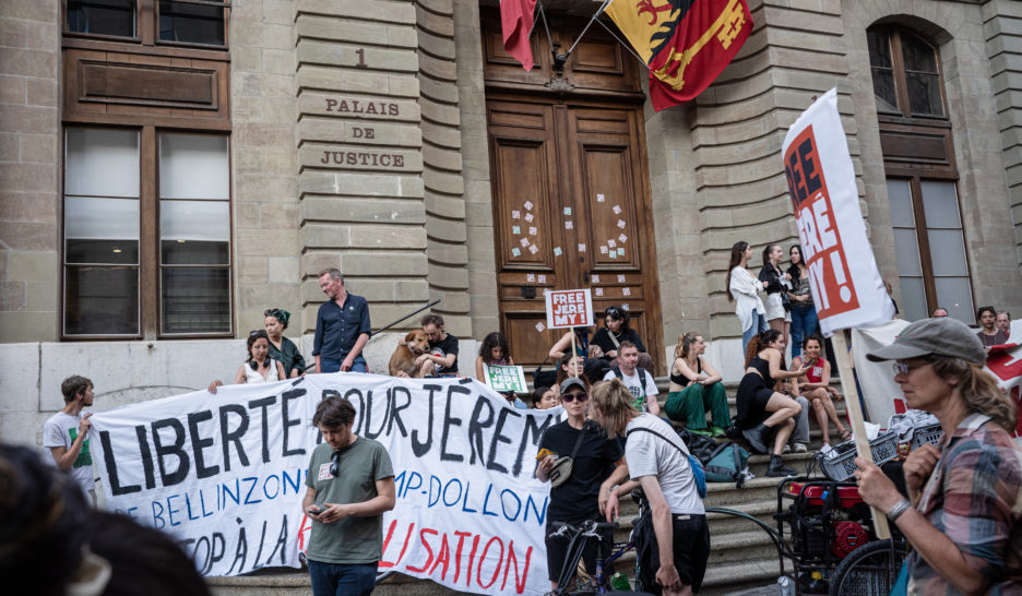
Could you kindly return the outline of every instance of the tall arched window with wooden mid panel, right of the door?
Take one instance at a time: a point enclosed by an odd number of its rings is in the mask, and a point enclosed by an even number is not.
[[[867,31],[902,317],[938,307],[974,321],[951,122],[937,48],[898,26]]]

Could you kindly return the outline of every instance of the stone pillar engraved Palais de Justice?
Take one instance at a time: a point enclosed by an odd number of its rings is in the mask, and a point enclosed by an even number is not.
[[[302,327],[336,266],[380,326],[429,298],[416,7],[296,0]]]

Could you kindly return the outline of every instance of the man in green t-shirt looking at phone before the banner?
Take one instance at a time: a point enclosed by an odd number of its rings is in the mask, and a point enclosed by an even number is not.
[[[390,456],[377,441],[356,437],[354,421],[354,406],[338,396],[320,402],[312,417],[325,441],[312,451],[301,501],[312,521],[306,558],[313,596],[372,592],[383,512],[394,509]]]

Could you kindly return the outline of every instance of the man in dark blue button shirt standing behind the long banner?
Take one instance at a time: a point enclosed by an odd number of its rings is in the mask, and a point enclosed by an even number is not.
[[[320,274],[320,288],[329,300],[316,314],[316,372],[366,372],[361,350],[369,341],[369,302],[344,289],[344,277],[336,269]]]

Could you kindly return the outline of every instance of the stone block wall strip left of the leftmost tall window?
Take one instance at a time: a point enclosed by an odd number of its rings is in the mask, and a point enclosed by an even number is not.
[[[59,330],[59,3],[0,2],[0,342]]]

